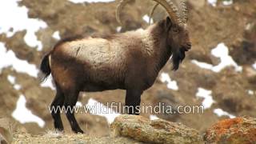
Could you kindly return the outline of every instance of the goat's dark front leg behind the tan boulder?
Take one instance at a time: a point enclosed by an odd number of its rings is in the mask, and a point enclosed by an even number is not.
[[[126,90],[126,110],[127,114],[139,115],[142,90]]]

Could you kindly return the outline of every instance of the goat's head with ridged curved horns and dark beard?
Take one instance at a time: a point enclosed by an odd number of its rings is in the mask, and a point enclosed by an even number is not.
[[[154,14],[154,10],[160,4],[163,6],[169,16],[163,21],[165,24],[163,29],[166,33],[166,46],[170,47],[172,52],[173,69],[178,70],[179,64],[185,58],[185,52],[190,50],[191,42],[188,30],[186,30],[186,22],[188,20],[188,11],[186,8],[186,2],[180,0],[179,2],[171,0],[154,0],[157,4],[151,12],[151,16]],[[122,0],[117,8],[116,18],[119,23],[122,24],[120,19],[121,10],[130,0]]]

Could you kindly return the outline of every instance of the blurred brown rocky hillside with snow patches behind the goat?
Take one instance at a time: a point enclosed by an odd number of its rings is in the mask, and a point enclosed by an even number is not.
[[[142,102],[204,106],[200,114],[142,114],[163,118],[198,130],[200,134],[224,118],[256,117],[256,3],[254,0],[188,0],[192,50],[178,71],[171,63],[159,74]],[[61,38],[116,34],[148,26],[153,1],[131,0],[122,12],[124,26],[115,19],[113,2],[74,0],[6,0],[0,2],[0,118],[10,118],[23,132],[44,134],[53,129],[48,110],[55,90],[40,84],[38,66]],[[161,6],[154,22],[165,18]],[[125,91],[82,93],[78,104],[122,102]],[[117,112],[118,113],[118,112]],[[76,114],[92,136],[110,135],[107,117]],[[70,125],[62,114],[66,133]]]

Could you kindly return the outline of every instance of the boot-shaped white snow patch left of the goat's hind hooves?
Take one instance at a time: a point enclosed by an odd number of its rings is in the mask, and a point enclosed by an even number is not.
[[[12,113],[12,117],[22,124],[26,122],[36,122],[38,126],[45,126],[45,122],[42,118],[32,114],[31,110],[26,108],[26,98],[24,95],[20,95],[16,104],[16,109]]]

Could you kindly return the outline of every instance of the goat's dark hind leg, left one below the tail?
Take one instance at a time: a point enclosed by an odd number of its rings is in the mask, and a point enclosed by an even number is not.
[[[60,109],[62,109],[64,102],[64,94],[62,90],[56,84],[56,96],[54,101],[50,104],[51,115],[54,118],[54,128],[59,131],[63,131],[62,118],[60,115]]]

